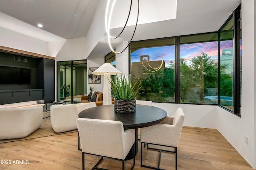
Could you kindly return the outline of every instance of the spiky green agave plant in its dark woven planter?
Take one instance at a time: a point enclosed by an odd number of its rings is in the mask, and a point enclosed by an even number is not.
[[[140,94],[142,80],[134,76],[121,75],[111,78],[111,90],[114,94],[114,109],[116,113],[132,113],[136,111],[136,96]]]

